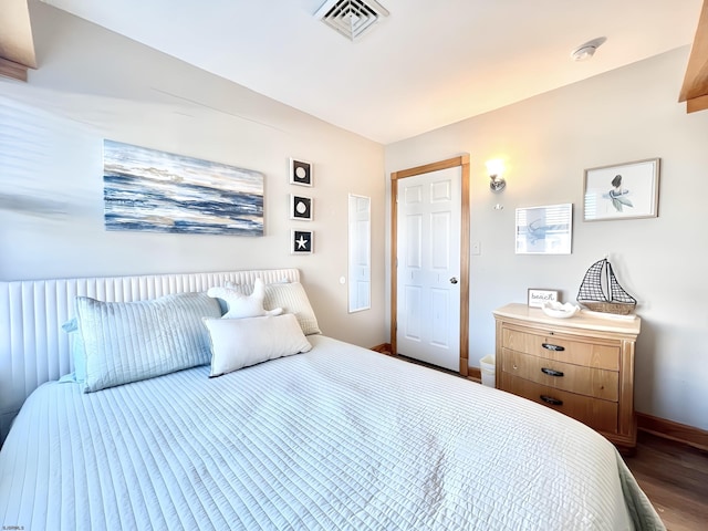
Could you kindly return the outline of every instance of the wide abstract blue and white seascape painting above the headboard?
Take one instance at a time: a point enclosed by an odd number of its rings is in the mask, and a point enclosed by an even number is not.
[[[263,174],[103,142],[106,230],[263,236]]]

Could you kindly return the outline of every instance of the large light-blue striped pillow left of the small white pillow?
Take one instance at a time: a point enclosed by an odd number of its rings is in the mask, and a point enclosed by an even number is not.
[[[209,363],[202,317],[220,317],[216,299],[179,293],[135,302],[76,298],[85,350],[84,393]]]

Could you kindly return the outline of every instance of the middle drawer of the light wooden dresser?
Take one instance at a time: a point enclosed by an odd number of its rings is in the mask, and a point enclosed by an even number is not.
[[[501,369],[548,387],[617,402],[620,373],[556,362],[503,348]]]

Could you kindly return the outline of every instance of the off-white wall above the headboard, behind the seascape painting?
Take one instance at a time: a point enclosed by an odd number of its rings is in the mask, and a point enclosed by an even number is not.
[[[30,7],[39,69],[27,84],[0,79],[1,279],[296,267],[324,333],[363,346],[386,341],[383,146],[44,3]],[[266,236],[105,231],[104,138],[263,173]],[[314,164],[313,188],[289,184],[290,157]],[[305,191],[314,221],[291,221],[289,194]],[[372,197],[374,228],[373,309],[352,315],[339,282],[350,192]],[[312,256],[290,254],[299,226],[315,231]]]

